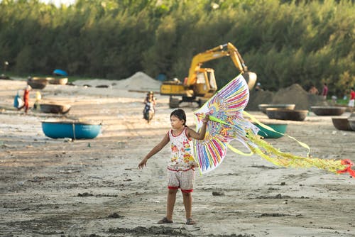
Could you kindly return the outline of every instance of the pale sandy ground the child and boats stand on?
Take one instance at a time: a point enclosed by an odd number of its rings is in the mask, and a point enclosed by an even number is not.
[[[148,124],[143,93],[50,84],[41,91],[43,102],[68,103],[66,116],[102,121],[97,138],[70,141],[42,131],[40,121],[58,115],[11,108],[25,85],[0,80],[0,236],[355,236],[349,175],[275,167],[230,151],[217,170],[197,175],[197,225],[184,224],[180,193],[175,223],[156,224],[165,216],[168,146],[145,169],[136,167],[170,128],[168,97],[156,96],[157,114]],[[31,103],[34,97],[35,90]],[[194,108],[182,106],[195,128]],[[337,131],[330,116],[311,112],[305,121],[287,123],[287,133],[310,145],[314,157],[355,160],[355,132]],[[297,155],[307,152],[286,136],[268,141]]]

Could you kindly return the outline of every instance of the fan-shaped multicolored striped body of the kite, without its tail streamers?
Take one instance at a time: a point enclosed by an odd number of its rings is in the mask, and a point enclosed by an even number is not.
[[[195,140],[195,159],[202,173],[214,170],[222,163],[231,140],[246,145],[246,130],[258,133],[258,128],[243,118],[243,110],[249,101],[248,84],[242,75],[231,80],[200,109],[194,112],[197,131],[202,127],[202,118],[209,114],[204,140]]]

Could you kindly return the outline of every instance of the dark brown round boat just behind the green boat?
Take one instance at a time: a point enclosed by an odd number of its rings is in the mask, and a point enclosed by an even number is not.
[[[307,110],[269,108],[269,109],[266,109],[266,114],[268,115],[268,118],[271,118],[271,119],[304,121],[307,114],[308,114],[308,111]]]

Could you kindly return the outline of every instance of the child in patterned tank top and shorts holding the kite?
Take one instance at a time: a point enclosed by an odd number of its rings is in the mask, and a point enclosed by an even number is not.
[[[186,114],[182,109],[175,109],[170,114],[171,130],[165,134],[163,140],[146,155],[138,164],[138,168],[147,165],[147,161],[158,153],[170,142],[171,155],[168,163],[168,200],[166,205],[166,216],[158,221],[158,224],[173,223],[173,211],[178,189],[181,189],[185,206],[186,224],[196,224],[192,220],[192,191],[195,180],[195,167],[198,164],[193,158],[192,138],[203,140],[206,133],[209,116],[205,116],[200,133],[195,132],[186,126]]]

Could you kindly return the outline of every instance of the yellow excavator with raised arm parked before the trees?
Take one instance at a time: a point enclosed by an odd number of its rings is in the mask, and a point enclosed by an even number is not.
[[[170,108],[178,108],[182,102],[197,102],[199,106],[202,106],[205,101],[211,98],[217,91],[214,70],[201,67],[202,63],[226,56],[231,57],[236,68],[246,79],[249,89],[252,89],[256,82],[256,74],[248,72],[248,67],[236,47],[231,43],[226,43],[195,55],[192,58],[189,76],[185,78],[184,82],[180,82],[176,78],[163,82],[160,86],[160,94],[170,96]]]

